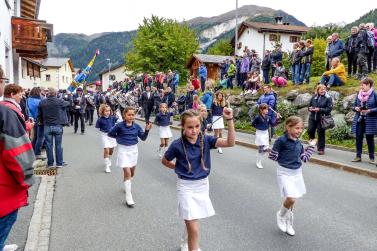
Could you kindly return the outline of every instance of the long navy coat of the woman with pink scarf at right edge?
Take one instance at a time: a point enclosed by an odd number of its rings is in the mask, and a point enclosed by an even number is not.
[[[356,100],[353,104],[352,110],[355,111],[355,107],[362,107],[360,99],[356,97]],[[369,96],[367,101],[367,108],[370,112],[365,116],[365,134],[366,135],[377,135],[377,93],[373,92],[372,95]],[[359,120],[360,112],[356,112],[355,117],[353,118],[352,122],[352,133],[356,134],[356,128],[360,123],[357,121]]]

